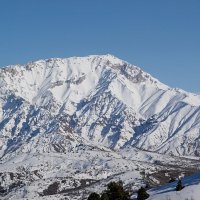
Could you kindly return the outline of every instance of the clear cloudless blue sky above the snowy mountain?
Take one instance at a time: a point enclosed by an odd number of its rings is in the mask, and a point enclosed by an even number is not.
[[[106,53],[200,92],[200,0],[0,1],[0,66]]]

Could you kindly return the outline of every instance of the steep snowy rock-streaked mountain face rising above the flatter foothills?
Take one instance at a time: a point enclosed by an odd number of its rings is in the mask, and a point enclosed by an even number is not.
[[[3,157],[31,146],[68,151],[65,144],[77,138],[199,155],[200,96],[171,89],[114,56],[40,60],[0,69],[0,77]]]

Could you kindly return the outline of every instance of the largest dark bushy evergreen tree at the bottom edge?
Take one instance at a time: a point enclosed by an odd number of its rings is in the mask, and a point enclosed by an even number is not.
[[[106,194],[109,200],[130,200],[129,192],[124,190],[122,183],[110,182]]]

